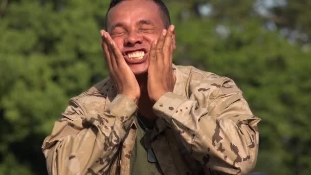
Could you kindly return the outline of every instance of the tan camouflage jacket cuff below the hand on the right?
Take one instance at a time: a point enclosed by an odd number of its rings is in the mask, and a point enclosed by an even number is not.
[[[170,123],[177,108],[186,100],[175,93],[167,92],[152,106],[153,113]]]

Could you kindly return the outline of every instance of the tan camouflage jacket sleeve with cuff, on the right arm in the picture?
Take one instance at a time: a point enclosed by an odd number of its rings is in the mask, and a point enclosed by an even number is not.
[[[246,174],[257,160],[259,133],[241,91],[228,78],[202,82],[188,98],[168,92],[153,106],[204,168]]]

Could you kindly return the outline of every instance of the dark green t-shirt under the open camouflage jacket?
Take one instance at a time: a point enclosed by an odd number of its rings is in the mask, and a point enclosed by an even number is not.
[[[152,130],[156,121],[146,119],[141,115],[138,117],[139,119],[135,118],[138,126],[136,141],[130,156],[130,174],[163,174],[158,161],[156,163],[148,162],[147,147],[144,138],[147,136],[145,131],[147,129],[145,127],[147,127],[149,130]]]

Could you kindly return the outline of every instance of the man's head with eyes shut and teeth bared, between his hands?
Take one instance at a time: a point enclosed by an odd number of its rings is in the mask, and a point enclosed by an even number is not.
[[[164,29],[160,9],[153,1],[123,1],[110,9],[107,32],[120,49],[135,75],[148,70],[148,55],[152,41]]]

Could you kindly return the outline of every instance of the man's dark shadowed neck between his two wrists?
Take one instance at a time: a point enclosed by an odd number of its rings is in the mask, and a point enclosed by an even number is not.
[[[148,119],[156,119],[157,116],[152,113],[152,103],[149,99],[147,81],[148,74],[136,75],[137,82],[140,86],[140,98],[138,102],[138,113]]]

